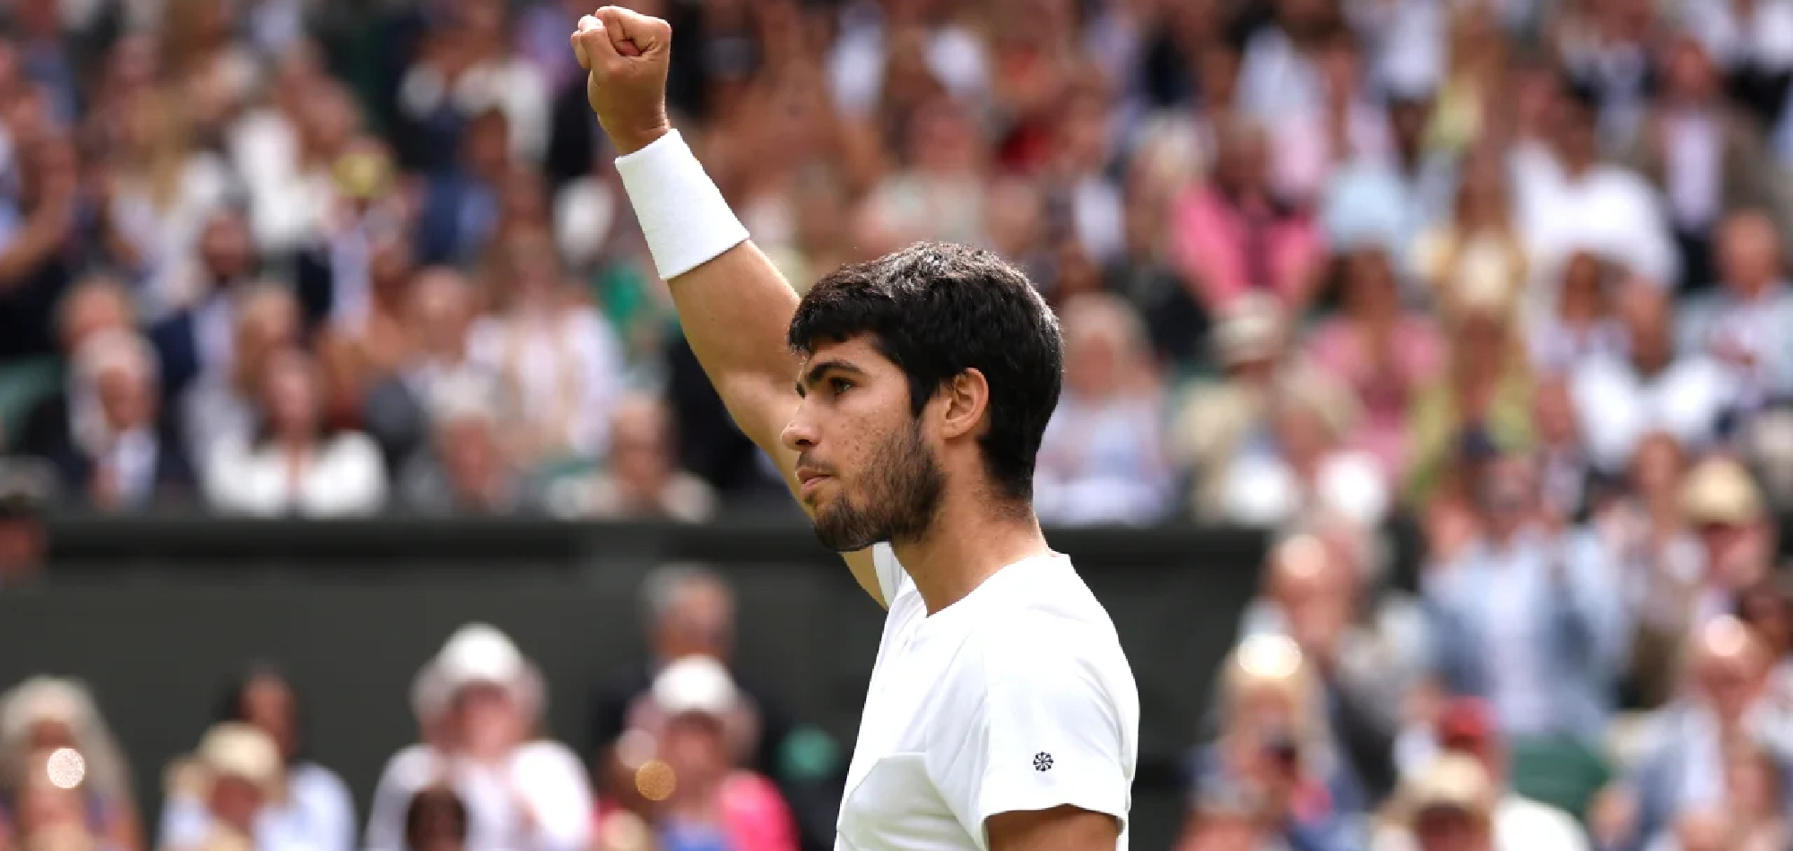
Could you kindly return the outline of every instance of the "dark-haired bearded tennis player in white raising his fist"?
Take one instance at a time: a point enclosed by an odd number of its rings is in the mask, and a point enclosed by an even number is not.
[[[1139,692],[1033,512],[1058,321],[1013,265],[947,244],[798,299],[667,122],[671,38],[604,7],[572,45],[697,360],[889,609],[836,849],[1124,849]]]

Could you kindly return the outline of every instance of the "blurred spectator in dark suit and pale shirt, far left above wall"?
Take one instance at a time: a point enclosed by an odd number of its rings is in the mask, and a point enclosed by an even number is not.
[[[27,423],[20,453],[56,464],[63,489],[99,511],[142,511],[194,496],[194,469],[160,412],[156,353],[131,331],[102,331],[75,351],[66,401]]]

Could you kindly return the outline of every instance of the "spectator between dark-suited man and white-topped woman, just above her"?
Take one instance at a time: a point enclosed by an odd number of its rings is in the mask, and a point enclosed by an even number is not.
[[[251,439],[267,362],[299,342],[299,303],[278,283],[233,290],[230,315],[230,357],[210,362],[181,398],[186,455],[201,466],[217,446]]]

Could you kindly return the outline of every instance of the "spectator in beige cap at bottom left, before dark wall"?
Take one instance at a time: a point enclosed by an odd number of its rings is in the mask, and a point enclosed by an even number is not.
[[[206,731],[199,751],[169,772],[170,806],[201,812],[161,837],[161,851],[307,849],[310,840],[271,833],[269,810],[285,795],[280,745],[253,724],[222,722]]]

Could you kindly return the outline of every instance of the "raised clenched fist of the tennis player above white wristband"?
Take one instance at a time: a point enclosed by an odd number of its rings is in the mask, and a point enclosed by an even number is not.
[[[619,154],[633,154],[672,129],[667,122],[672,25],[606,5],[579,18],[572,50],[590,72],[585,95]]]

